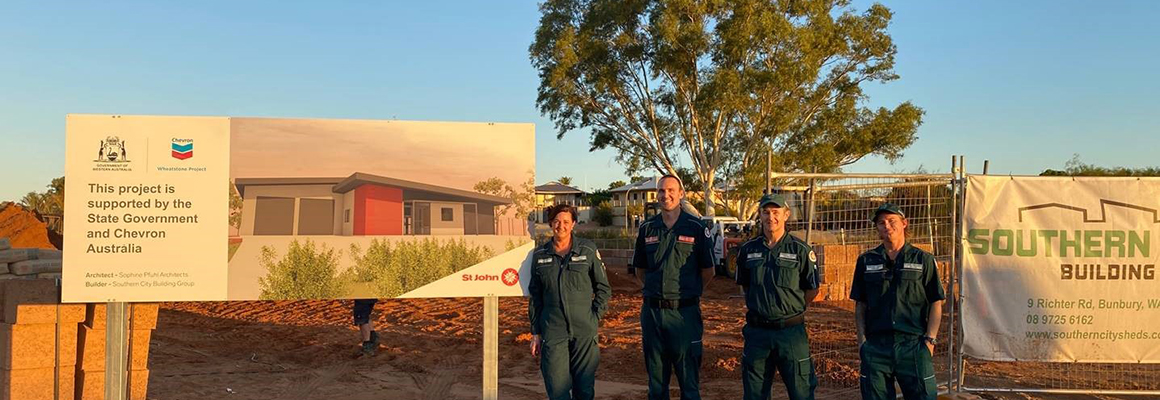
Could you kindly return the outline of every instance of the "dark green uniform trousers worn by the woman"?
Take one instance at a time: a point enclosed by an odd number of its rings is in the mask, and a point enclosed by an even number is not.
[[[592,400],[596,395],[600,346],[596,336],[545,341],[539,350],[539,372],[549,400]]]

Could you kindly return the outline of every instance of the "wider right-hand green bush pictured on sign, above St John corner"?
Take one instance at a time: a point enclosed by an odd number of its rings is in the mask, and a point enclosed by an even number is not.
[[[350,246],[354,266],[343,272],[343,279],[371,283],[379,297],[391,298],[492,256],[494,252],[490,247],[469,246],[463,239],[458,241],[423,239],[393,245],[386,240],[375,239],[365,253],[357,245]]]

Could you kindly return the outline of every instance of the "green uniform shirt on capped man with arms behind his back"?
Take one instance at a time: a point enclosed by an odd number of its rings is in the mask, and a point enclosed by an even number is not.
[[[813,249],[789,233],[766,246],[757,237],[741,245],[737,255],[737,284],[745,288],[747,317],[780,321],[805,312],[805,291],[818,289]]]

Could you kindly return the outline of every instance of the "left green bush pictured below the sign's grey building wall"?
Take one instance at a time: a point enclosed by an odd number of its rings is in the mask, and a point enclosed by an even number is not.
[[[339,256],[325,245],[316,249],[306,240],[290,242],[285,257],[278,257],[271,246],[262,246],[259,262],[266,268],[266,276],[259,278],[262,300],[333,299],[343,293],[343,279],[339,278]]]

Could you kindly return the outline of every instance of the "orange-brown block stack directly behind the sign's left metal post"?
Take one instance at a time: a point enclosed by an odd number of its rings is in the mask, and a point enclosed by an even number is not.
[[[104,399],[104,304],[87,304],[78,332],[77,400]],[[144,400],[148,387],[148,342],[157,328],[157,304],[131,304],[129,322],[129,399]]]

